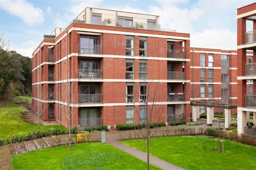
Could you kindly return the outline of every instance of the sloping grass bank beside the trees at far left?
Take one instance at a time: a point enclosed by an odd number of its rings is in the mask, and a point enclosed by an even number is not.
[[[21,134],[26,135],[29,132],[34,131],[34,127],[37,127],[37,124],[30,125],[20,119],[20,111],[24,109],[20,105],[13,102],[9,102],[8,114],[6,114],[6,103],[0,107],[0,138],[7,138],[11,134]],[[40,124],[40,126],[44,126]],[[53,126],[44,126],[44,130],[53,127],[55,129],[65,128],[62,125],[53,125]]]

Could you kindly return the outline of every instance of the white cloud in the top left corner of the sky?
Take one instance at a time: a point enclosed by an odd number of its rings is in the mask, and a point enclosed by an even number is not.
[[[36,8],[33,4],[26,1],[1,1],[1,8],[10,15],[21,18],[30,26],[44,22],[42,9]]]

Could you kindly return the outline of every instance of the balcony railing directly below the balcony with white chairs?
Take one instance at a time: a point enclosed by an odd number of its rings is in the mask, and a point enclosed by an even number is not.
[[[102,94],[79,94],[78,103],[102,103]]]

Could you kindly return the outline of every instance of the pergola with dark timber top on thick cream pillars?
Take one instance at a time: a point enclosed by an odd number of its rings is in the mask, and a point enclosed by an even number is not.
[[[236,109],[236,104],[230,103],[212,103],[212,102],[200,102],[200,101],[191,101],[190,105],[192,106],[192,121],[197,121],[199,118],[199,107],[207,107],[207,126],[212,126],[212,121],[214,118],[214,108],[225,109],[225,129],[229,128],[231,122],[231,109]]]

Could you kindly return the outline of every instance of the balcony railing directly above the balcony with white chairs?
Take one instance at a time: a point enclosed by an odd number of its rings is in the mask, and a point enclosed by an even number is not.
[[[102,45],[77,44],[80,54],[102,54]]]

